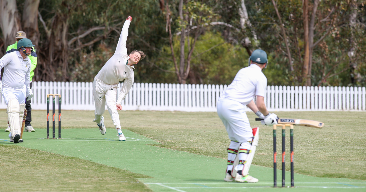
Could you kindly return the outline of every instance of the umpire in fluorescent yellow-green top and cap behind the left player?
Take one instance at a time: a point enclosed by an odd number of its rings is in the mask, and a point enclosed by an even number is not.
[[[24,31],[16,32],[16,35],[15,35],[16,42],[15,42],[15,44],[12,44],[12,45],[8,46],[8,48],[6,49],[6,53],[11,53],[11,52],[17,51],[16,46],[18,45],[19,40],[23,39],[23,38],[27,38],[27,35],[24,33]],[[32,48],[34,49],[34,47],[32,47]],[[31,67],[30,67],[30,78],[29,78],[29,87],[30,87],[30,89],[32,89],[32,79],[33,79],[33,75],[34,75],[33,70],[37,66],[37,53],[36,53],[36,50],[34,50],[31,53],[31,55],[33,57],[29,57],[29,59],[32,63]],[[31,113],[32,108],[30,106],[30,102],[31,102],[31,100],[26,101],[25,108],[28,110],[28,112],[27,112],[27,117],[26,117],[26,120],[25,120],[25,130],[24,131],[34,132],[35,130],[32,127],[32,125],[30,124],[30,122],[32,121],[32,113]],[[9,125],[8,125],[8,128],[5,129],[5,132],[10,132]]]

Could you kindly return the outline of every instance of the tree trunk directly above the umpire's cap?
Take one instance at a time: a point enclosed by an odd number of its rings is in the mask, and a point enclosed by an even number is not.
[[[40,0],[26,0],[23,9],[23,30],[27,34],[33,45],[38,48],[40,31],[38,30],[38,6]]]

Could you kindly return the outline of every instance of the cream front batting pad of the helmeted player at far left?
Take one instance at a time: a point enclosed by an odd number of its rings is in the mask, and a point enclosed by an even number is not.
[[[20,124],[19,124],[19,102],[18,99],[10,99],[7,106],[8,121],[11,136],[14,137],[15,134],[20,135]],[[24,108],[23,108],[24,112]]]

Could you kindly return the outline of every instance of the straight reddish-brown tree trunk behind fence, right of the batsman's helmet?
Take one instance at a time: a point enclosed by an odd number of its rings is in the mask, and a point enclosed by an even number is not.
[[[302,80],[306,82],[309,75],[309,2],[303,0],[303,23],[304,23],[304,64],[302,69]]]

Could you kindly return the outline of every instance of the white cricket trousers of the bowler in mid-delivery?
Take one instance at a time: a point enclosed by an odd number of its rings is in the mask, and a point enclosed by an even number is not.
[[[116,126],[116,128],[121,128],[116,106],[117,89],[117,84],[110,85],[101,82],[100,80],[94,79],[93,97],[95,103],[95,122],[100,123],[102,114],[105,110],[105,104],[107,103],[107,109],[111,115],[113,124]]]

